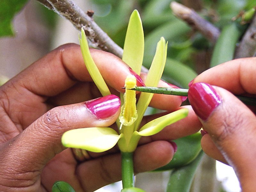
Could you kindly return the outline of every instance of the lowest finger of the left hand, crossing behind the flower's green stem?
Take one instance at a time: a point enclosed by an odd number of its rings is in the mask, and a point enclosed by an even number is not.
[[[152,171],[169,163],[174,154],[172,144],[155,141],[139,146],[133,156],[134,172]],[[102,186],[121,180],[121,155],[102,156],[79,164],[77,175],[84,191],[94,191]]]

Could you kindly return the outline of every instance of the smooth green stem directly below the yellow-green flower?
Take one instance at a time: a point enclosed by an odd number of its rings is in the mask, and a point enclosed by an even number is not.
[[[134,187],[133,152],[121,152],[123,188]]]

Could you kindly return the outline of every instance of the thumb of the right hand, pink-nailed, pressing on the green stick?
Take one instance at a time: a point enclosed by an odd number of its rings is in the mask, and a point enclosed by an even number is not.
[[[255,115],[232,93],[205,83],[193,84],[188,91],[188,100],[210,135],[206,134],[209,145],[213,141],[228,164],[233,166],[243,191],[256,191]],[[210,148],[206,146],[205,149],[211,154],[212,151],[207,150]]]

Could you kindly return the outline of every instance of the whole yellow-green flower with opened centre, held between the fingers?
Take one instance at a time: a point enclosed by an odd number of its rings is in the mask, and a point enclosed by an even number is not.
[[[79,38],[80,39],[80,38]],[[103,80],[98,68],[90,55],[84,30],[80,39],[81,50],[86,67],[92,76],[93,81],[103,96],[110,94],[110,91]],[[140,69],[144,53],[144,33],[139,13],[135,10],[130,18],[125,43],[123,60],[133,71],[140,75]],[[156,54],[145,81],[146,86],[157,86],[162,76],[166,61],[167,43],[162,37],[157,44]],[[165,126],[172,124],[188,115],[188,109],[180,109],[168,115],[159,117],[140,129],[140,122],[153,96],[153,93],[141,93],[136,105],[135,91],[129,90],[136,86],[136,78],[132,75],[125,80],[124,103],[121,113],[116,121],[119,126],[119,133],[109,127],[91,127],[70,130],[63,134],[62,143],[66,147],[82,148],[93,152],[103,152],[116,145],[122,152],[133,152],[141,136],[150,136],[161,131]],[[137,109],[136,109],[137,108]],[[83,137],[77,137],[83,135]]]

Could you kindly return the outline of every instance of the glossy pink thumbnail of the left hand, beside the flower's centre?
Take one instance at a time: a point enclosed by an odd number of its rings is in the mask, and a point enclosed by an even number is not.
[[[88,110],[98,119],[106,119],[116,114],[121,101],[116,95],[107,95],[85,103]]]

